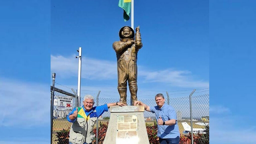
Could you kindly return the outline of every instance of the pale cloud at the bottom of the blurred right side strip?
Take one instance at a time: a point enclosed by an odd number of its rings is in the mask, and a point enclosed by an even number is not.
[[[210,143],[256,143],[256,132],[251,128],[253,125],[246,124],[241,116],[211,117],[210,119]]]

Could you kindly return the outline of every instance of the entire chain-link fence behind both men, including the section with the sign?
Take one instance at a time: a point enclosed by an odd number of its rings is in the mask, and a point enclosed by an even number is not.
[[[51,87],[52,92],[52,87]],[[108,103],[113,103],[116,101],[119,101],[119,98],[103,98],[104,95],[99,92],[99,98],[97,99],[97,92],[90,94],[95,98],[95,104],[94,106],[98,105],[104,105]],[[58,110],[57,108],[57,99],[58,96],[60,97],[72,97],[73,98],[73,108],[75,107],[75,95],[71,94],[67,91],[63,91],[61,89],[55,88],[54,92],[54,111],[53,111],[53,134],[52,134],[52,143],[57,144],[58,143],[58,137],[57,132],[68,129],[71,126],[71,123],[67,121],[66,117],[69,114],[70,111],[64,111],[64,110]],[[148,106],[156,106],[155,97],[152,96],[151,99],[139,99],[140,96],[138,96],[138,100],[142,101],[143,103],[147,104]],[[83,105],[83,99],[84,96],[80,97],[80,106]],[[169,100],[169,101],[168,101]],[[130,97],[127,96],[127,104],[130,104]],[[178,126],[179,131],[182,133],[184,131],[184,128],[182,126],[182,122],[187,122],[190,125],[190,102],[189,102],[189,96],[186,97],[178,97],[178,98],[167,98],[165,96],[165,103],[171,105],[175,110],[177,114],[177,120],[178,120]],[[193,116],[193,128],[202,128],[203,126],[196,125],[197,122],[209,122],[209,94],[204,95],[197,95],[197,96],[191,96],[191,104],[192,104],[192,116]],[[104,112],[101,117],[99,117],[99,121],[103,119],[108,119],[110,117],[110,112]],[[146,123],[154,123],[156,121],[155,114],[152,112],[145,111],[144,117]],[[69,133],[69,132],[68,132]],[[67,134],[68,134],[67,133]],[[60,143],[61,144],[61,143]]]

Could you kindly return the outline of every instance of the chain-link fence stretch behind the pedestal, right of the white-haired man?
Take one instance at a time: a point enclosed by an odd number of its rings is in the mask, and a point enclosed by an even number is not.
[[[167,98],[165,98],[165,103],[167,104]],[[83,97],[81,97],[81,106]],[[96,100],[96,97],[95,97]],[[138,99],[148,106],[156,106],[155,99]],[[192,115],[194,121],[201,121],[202,117],[209,116],[209,94],[192,96]],[[104,105],[107,103],[112,103],[119,101],[119,99],[111,98],[100,98],[99,105]],[[127,99],[127,104],[130,103],[130,100]],[[181,120],[190,120],[190,105],[189,105],[189,96],[180,97],[180,98],[170,98],[169,104],[176,110],[178,121]],[[104,112],[99,119],[104,117],[110,117],[110,112]],[[155,120],[155,114],[152,112],[144,112],[145,120]]]

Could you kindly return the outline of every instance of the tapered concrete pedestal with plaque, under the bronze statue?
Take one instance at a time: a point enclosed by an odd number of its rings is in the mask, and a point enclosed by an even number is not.
[[[149,144],[144,106],[111,106],[103,144]]]

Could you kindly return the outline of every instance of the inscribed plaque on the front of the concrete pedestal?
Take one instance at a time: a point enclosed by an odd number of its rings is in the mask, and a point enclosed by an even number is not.
[[[138,143],[137,115],[117,115],[116,143]]]

